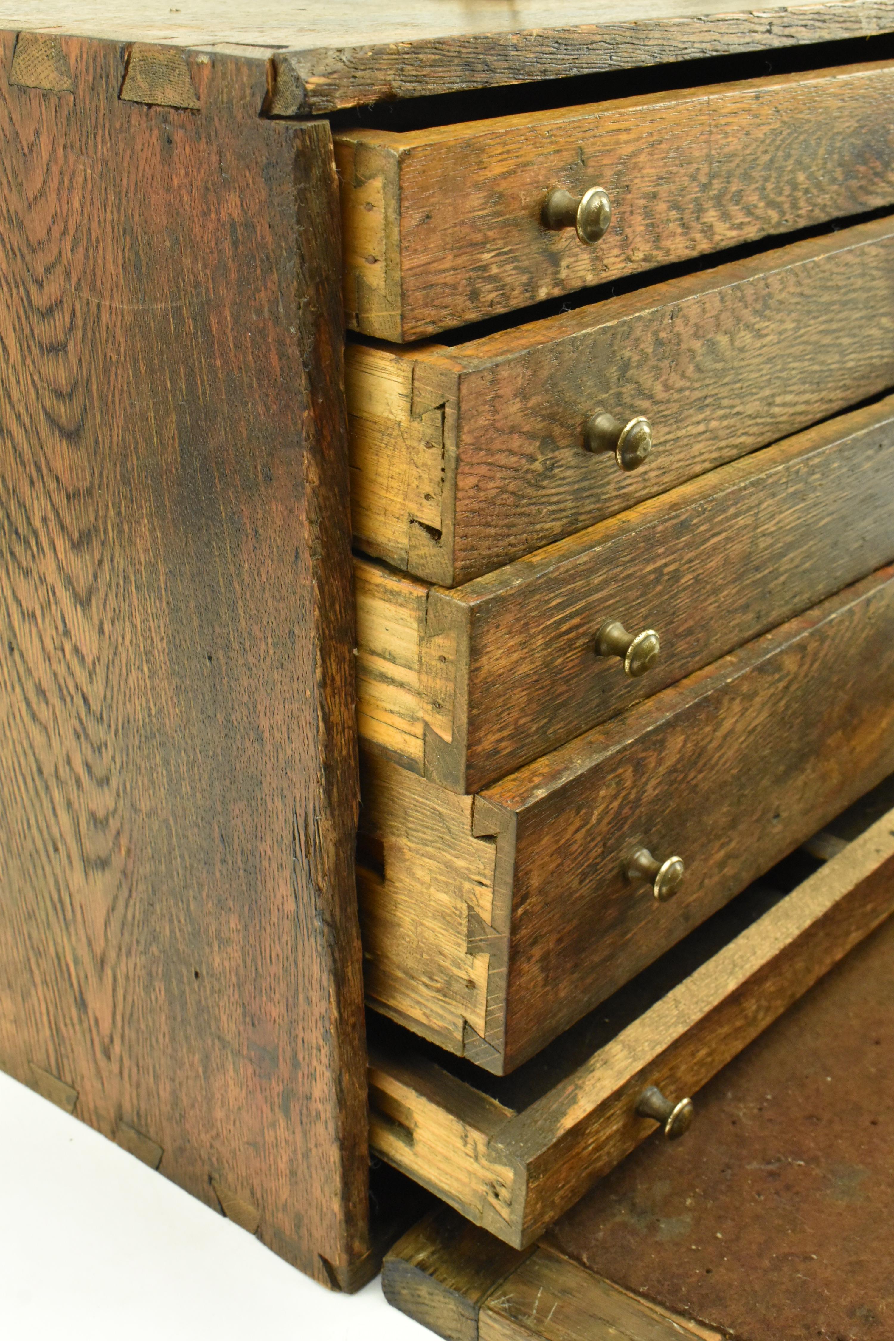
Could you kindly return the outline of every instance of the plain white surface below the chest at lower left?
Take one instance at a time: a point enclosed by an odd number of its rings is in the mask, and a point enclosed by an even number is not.
[[[378,1281],[331,1294],[0,1073],[3,1341],[432,1341]]]

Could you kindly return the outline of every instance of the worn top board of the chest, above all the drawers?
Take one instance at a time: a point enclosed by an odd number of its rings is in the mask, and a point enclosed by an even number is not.
[[[19,0],[0,27],[169,43],[269,62],[280,115],[327,113],[382,98],[418,98],[533,79],[562,79],[670,60],[866,38],[894,28],[890,0],[810,0],[760,11],[728,0],[613,0],[598,15],[566,0]]]

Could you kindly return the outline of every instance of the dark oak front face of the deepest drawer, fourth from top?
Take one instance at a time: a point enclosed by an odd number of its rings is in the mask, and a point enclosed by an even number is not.
[[[507,1070],[894,767],[893,628],[883,569],[483,794],[517,817]],[[637,842],[686,862],[669,902]]]

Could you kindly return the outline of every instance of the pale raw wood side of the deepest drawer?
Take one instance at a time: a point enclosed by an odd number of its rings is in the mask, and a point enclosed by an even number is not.
[[[470,797],[371,755],[361,778],[361,830],[367,849],[370,839],[382,843],[387,872],[383,878],[365,864],[361,843],[367,1000],[461,1053],[466,1027],[478,1035],[488,1029],[491,945],[469,945],[469,923],[477,916],[489,928],[495,916],[495,845],[473,837]],[[497,960],[500,948],[493,947]]]

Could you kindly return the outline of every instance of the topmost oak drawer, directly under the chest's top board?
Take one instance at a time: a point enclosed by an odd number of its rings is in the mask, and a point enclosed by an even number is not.
[[[894,66],[344,130],[335,157],[347,325],[413,341],[894,202]],[[554,190],[591,188],[611,209],[596,241],[579,239],[574,212],[544,227]],[[595,198],[582,236],[604,223]]]

